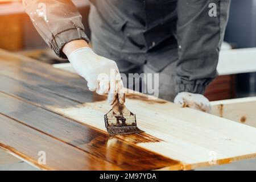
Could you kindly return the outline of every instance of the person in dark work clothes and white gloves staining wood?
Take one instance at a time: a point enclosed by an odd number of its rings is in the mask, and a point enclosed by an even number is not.
[[[159,97],[210,110],[203,93],[217,76],[230,0],[91,0],[93,51],[72,1],[23,2],[46,43],[110,104],[123,88],[119,71],[144,72],[159,73]]]

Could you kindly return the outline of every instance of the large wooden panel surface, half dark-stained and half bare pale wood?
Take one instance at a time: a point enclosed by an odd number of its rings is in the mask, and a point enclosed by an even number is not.
[[[73,73],[0,50],[0,147],[41,169],[179,170],[256,156],[254,127],[143,94],[126,106],[146,133],[109,137],[105,100]]]

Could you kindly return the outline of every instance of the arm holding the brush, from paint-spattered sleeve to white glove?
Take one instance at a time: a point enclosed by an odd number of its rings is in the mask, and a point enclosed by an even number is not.
[[[23,0],[36,30],[56,55],[67,58],[84,77],[90,91],[108,93],[108,102],[125,102],[123,82],[117,64],[88,47],[82,17],[71,0]]]

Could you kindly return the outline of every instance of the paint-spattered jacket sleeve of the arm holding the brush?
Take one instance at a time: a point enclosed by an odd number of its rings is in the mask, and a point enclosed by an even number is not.
[[[89,42],[82,17],[71,0],[23,0],[23,6],[36,30],[57,56],[67,58],[61,49],[72,40]]]

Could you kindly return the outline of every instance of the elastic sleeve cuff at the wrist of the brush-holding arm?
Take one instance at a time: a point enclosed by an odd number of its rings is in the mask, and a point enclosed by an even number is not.
[[[62,48],[65,46],[65,44],[71,42],[72,40],[79,39],[84,39],[87,43],[89,43],[89,39],[82,28],[71,28],[53,36],[49,45],[57,56],[67,59],[67,56],[61,51]]]

